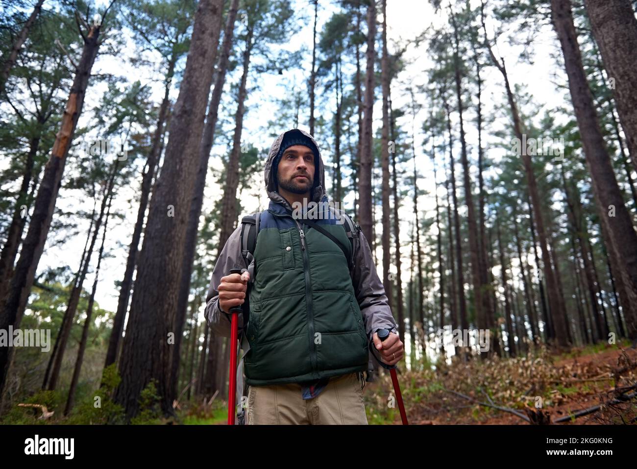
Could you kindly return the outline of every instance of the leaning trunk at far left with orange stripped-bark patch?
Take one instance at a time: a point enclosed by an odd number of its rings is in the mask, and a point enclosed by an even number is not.
[[[66,156],[68,155],[73,133],[82,113],[82,105],[90,70],[97,55],[100,25],[92,25],[85,34],[82,58],[76,69],[71,92],[69,93],[64,114],[60,123],[60,130],[55,136],[55,143],[51,156],[45,166],[45,172],[39,185],[38,195],[34,203],[29,231],[22,243],[20,258],[11,279],[10,289],[0,314],[0,329],[8,330],[20,328],[22,314],[31,293],[31,286],[38,268],[39,259],[47,241],[48,230],[55,210],[55,201],[59,191]],[[4,384],[9,372],[13,347],[0,347],[0,396],[4,392]]]

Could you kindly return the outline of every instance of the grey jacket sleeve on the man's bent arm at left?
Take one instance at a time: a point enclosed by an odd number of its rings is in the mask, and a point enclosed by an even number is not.
[[[210,287],[206,295],[206,310],[204,317],[212,329],[212,333],[221,337],[230,337],[231,315],[219,308],[218,287],[221,277],[229,275],[230,269],[244,268],[245,261],[241,256],[241,224],[233,231],[221,250],[215,268],[212,271]],[[239,331],[243,328],[243,313],[239,314]]]

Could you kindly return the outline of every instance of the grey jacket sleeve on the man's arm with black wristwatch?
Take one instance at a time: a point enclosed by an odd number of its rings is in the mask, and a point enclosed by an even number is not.
[[[362,231],[359,231],[358,246],[354,252],[354,272],[352,283],[356,299],[361,308],[365,331],[371,342],[378,329],[389,329],[397,334],[398,326],[394,321],[385,287],[376,273],[374,259],[371,256],[368,242]]]

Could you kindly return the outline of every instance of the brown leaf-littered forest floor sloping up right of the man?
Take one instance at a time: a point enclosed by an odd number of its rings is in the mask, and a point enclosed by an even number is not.
[[[637,424],[637,349],[629,342],[403,368],[398,380],[410,424]],[[400,424],[389,373],[366,388],[369,423]]]

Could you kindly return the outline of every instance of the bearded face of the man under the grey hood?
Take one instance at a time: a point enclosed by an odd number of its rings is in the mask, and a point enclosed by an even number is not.
[[[276,182],[288,192],[305,194],[314,182],[314,154],[305,145],[286,148],[276,170]]]

